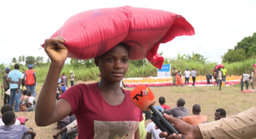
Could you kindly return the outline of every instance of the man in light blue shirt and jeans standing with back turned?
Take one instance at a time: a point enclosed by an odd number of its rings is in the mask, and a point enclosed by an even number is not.
[[[15,112],[19,112],[20,104],[20,90],[22,84],[22,73],[20,72],[20,65],[15,64],[15,69],[10,71],[8,74],[9,88],[10,88],[10,99],[9,104],[14,106]]]

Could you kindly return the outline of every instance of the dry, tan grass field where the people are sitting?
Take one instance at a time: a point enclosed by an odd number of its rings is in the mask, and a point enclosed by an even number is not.
[[[43,84],[38,84],[36,91],[39,92]],[[151,87],[150,88],[157,99],[156,105],[159,105],[158,98],[166,97],[166,104],[171,108],[176,107],[178,98],[184,98],[186,101],[185,107],[189,108],[189,113],[192,114],[192,106],[197,103],[201,105],[201,114],[208,117],[208,121],[214,120],[214,112],[217,108],[224,108],[227,115],[238,114],[247,108],[256,106],[256,93],[240,92],[240,86],[224,86],[222,91],[218,91],[216,86],[166,86],[166,87]],[[128,89],[132,90],[132,89]],[[0,99],[0,107],[3,106],[3,99]],[[26,127],[32,127],[37,132],[37,139],[50,139],[57,132],[54,130],[55,124],[38,127],[35,124],[34,112],[15,113],[18,116],[26,116],[29,120],[26,122]],[[146,120],[147,125],[150,120]]]

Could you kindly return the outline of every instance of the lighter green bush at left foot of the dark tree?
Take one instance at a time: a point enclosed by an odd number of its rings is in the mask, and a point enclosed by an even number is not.
[[[222,62],[224,63],[232,63],[247,59],[247,54],[245,53],[244,49],[229,49],[228,53],[224,53],[224,55],[221,56],[221,58]]]

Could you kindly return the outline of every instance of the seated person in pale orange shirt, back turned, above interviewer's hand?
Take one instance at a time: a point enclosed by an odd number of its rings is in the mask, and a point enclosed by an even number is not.
[[[183,118],[179,118],[183,120],[184,122],[188,123],[189,125],[199,125],[203,122],[207,121],[206,115],[201,115],[201,107],[199,104],[195,104],[192,108],[192,112],[194,115],[191,116],[185,116]]]

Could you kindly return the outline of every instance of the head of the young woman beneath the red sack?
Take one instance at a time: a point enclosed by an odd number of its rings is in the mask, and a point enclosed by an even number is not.
[[[129,47],[119,43],[107,53],[95,58],[95,64],[100,69],[102,79],[119,82],[125,77],[129,67]]]

